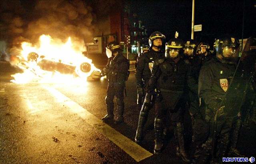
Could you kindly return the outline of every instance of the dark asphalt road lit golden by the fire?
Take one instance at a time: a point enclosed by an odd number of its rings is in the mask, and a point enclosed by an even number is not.
[[[10,74],[18,71],[1,62],[0,163],[183,163],[176,156],[171,128],[164,151],[152,154],[153,109],[144,141],[140,145],[134,142],[140,113],[134,72],[126,83],[125,123],[116,125],[100,121],[106,115],[106,79],[58,84],[9,82]],[[189,120],[186,117],[187,129]],[[238,148],[255,157],[256,129],[243,128],[242,134]]]

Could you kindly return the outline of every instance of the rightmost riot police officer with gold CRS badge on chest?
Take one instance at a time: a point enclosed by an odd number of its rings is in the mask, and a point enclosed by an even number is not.
[[[241,126],[239,119],[239,109],[232,112],[224,112],[224,107],[220,107],[220,102],[224,99],[225,93],[230,85],[232,76],[236,69],[236,62],[239,54],[239,41],[233,37],[224,37],[216,40],[216,57],[212,58],[200,71],[198,93],[206,104],[205,120],[216,130],[218,154],[212,156],[213,162],[222,162],[222,157],[228,153],[229,138],[234,136],[233,142],[237,142],[237,136]],[[214,122],[217,118],[217,123]],[[216,119],[215,119],[216,120]],[[215,127],[214,127],[214,123]],[[212,135],[210,135],[212,136]],[[209,138],[205,145],[206,152],[210,150],[215,138]],[[236,145],[236,143],[232,143]]]

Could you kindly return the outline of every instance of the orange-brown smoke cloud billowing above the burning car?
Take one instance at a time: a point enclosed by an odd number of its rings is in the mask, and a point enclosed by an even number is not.
[[[37,44],[42,34],[60,43],[70,36],[72,43],[78,45],[76,48],[85,51],[84,42],[90,42],[99,33],[97,24],[104,25],[103,14],[116,1],[2,0],[0,3],[1,51],[18,55],[22,41]],[[93,9],[95,6],[100,8]]]

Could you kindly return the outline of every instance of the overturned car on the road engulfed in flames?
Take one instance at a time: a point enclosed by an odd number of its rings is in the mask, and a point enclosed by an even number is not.
[[[22,49],[16,64],[24,71],[21,74],[12,75],[16,83],[28,82],[26,79],[42,79],[40,81],[63,82],[70,78],[99,80],[100,69],[97,69],[81,52],[82,45],[72,44],[71,38],[66,43],[56,43],[50,36],[40,36],[40,46],[22,42]],[[71,76],[70,76],[71,75]],[[66,80],[63,80],[63,78]],[[47,79],[47,80],[46,80]],[[31,81],[30,80],[30,81]],[[22,81],[22,82],[21,82]]]

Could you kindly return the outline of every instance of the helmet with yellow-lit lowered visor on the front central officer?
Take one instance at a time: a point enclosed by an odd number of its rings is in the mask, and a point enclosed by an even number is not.
[[[165,57],[176,59],[183,53],[184,43],[181,39],[173,38],[165,44]]]

